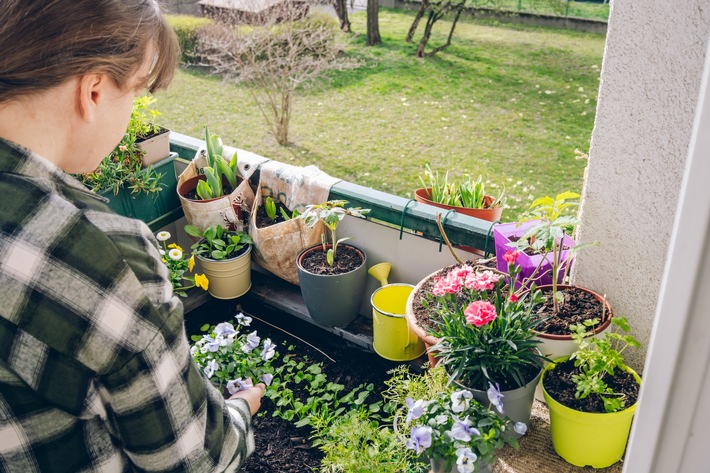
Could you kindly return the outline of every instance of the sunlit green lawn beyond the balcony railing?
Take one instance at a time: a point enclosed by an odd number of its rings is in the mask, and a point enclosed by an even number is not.
[[[363,65],[338,72],[295,98],[291,139],[281,147],[246,88],[181,70],[160,95],[160,123],[201,137],[205,125],[226,144],[332,176],[413,197],[419,173],[482,174],[503,186],[512,221],[533,198],[581,191],[604,37],[470,19],[433,58],[404,41],[413,14],[383,10],[384,44],[364,46],[365,15],[353,15],[348,54]],[[440,21],[430,44],[445,40]]]

